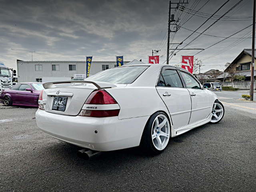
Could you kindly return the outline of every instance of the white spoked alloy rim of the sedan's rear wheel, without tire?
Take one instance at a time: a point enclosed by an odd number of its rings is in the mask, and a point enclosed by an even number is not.
[[[157,150],[166,148],[170,138],[170,124],[164,114],[159,114],[154,119],[151,134],[152,142]]]

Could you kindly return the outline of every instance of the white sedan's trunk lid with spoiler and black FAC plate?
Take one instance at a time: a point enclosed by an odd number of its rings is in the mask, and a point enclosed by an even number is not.
[[[72,82],[73,84],[73,82]],[[88,96],[98,88],[125,87],[127,84],[109,84],[105,82],[93,82],[73,84],[73,86],[63,86],[63,82],[58,84],[43,84],[46,88],[43,92],[42,102],[46,112],[77,116],[82,109]]]

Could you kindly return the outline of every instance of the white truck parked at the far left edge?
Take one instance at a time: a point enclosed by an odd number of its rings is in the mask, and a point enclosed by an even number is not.
[[[12,76],[10,74],[10,70],[12,71]],[[12,78],[13,76],[16,76],[15,73],[16,70],[6,67],[4,63],[0,61],[0,92],[12,87]]]

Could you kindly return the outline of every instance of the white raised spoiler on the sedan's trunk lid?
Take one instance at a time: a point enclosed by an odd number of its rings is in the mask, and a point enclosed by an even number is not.
[[[77,84],[94,84],[98,89],[103,89],[103,88],[111,88],[111,87],[116,87],[116,85],[108,82],[99,82],[99,81],[55,81],[55,82],[48,82],[44,83],[43,86],[45,89],[50,89],[50,88],[56,88],[56,84],[72,84],[72,83],[77,83]]]

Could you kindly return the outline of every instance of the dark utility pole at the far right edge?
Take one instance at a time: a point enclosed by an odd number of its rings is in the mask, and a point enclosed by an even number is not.
[[[253,20],[252,20],[252,69],[251,69],[251,88],[250,88],[250,100],[253,101],[254,92],[254,39],[255,39],[255,1],[253,1]]]

